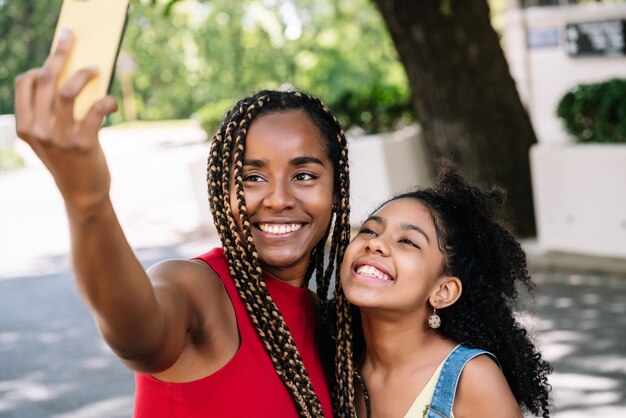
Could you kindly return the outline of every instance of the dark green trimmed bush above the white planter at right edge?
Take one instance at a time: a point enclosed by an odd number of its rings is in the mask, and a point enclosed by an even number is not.
[[[576,86],[561,98],[557,115],[577,142],[626,143],[626,79]]]

